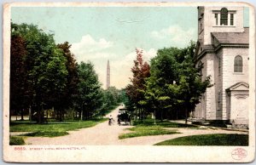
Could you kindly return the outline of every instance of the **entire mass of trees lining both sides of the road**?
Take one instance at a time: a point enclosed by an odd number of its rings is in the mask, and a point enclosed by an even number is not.
[[[31,109],[38,113],[37,121],[44,122],[44,110],[54,109],[60,121],[68,111],[84,120],[103,116],[123,101],[136,119],[151,112],[161,120],[187,119],[211,87],[210,77],[201,80],[201,68],[195,67],[193,42],[186,48],[159,49],[150,65],[143,60],[143,50],[136,48],[131,83],[122,90],[104,90],[94,65],[78,64],[71,47],[68,42],[56,44],[54,34],[38,26],[11,23],[11,114],[23,116]]]

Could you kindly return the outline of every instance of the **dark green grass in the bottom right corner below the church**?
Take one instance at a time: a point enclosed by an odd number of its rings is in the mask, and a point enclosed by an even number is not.
[[[203,134],[169,139],[155,145],[248,145],[247,134]]]

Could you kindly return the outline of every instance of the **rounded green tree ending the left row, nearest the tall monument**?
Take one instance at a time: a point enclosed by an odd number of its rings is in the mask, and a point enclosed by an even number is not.
[[[78,101],[81,119],[92,117],[103,104],[101,83],[90,62],[79,64]]]

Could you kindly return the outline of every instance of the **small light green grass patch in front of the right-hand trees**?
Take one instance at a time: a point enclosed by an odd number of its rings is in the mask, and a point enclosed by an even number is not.
[[[176,130],[167,130],[164,128],[160,128],[159,126],[139,126],[135,128],[128,128],[131,130],[131,133],[120,134],[119,139],[125,138],[134,138],[138,136],[152,136],[152,135],[160,135],[160,134],[179,134]]]

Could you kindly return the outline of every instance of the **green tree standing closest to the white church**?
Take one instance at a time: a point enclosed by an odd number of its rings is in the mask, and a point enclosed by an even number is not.
[[[169,85],[172,93],[175,95],[176,102],[180,109],[184,109],[185,120],[189,116],[189,111],[195,110],[195,105],[200,102],[201,95],[204,94],[207,88],[212,87],[210,77],[206,77],[201,81],[200,69],[195,67],[193,60],[195,50],[195,43],[191,42],[187,48],[181,50],[181,54],[184,57],[183,60],[178,63],[178,77],[177,84]]]

